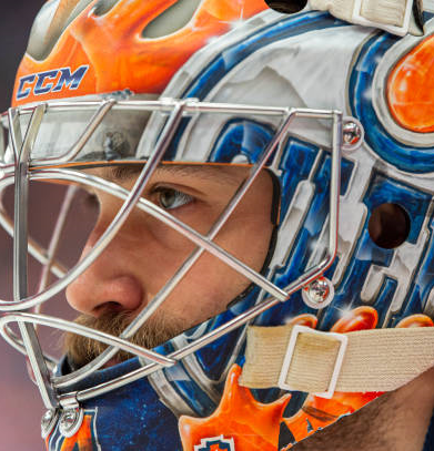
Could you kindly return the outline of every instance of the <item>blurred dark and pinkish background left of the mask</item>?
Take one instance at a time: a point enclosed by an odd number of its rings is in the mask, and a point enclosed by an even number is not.
[[[26,51],[34,16],[42,0],[14,0],[2,2],[0,27],[0,109],[9,107],[14,73]],[[44,204],[46,204],[44,199]],[[39,217],[44,215],[40,211]],[[11,278],[11,239],[0,229],[0,283]],[[0,451],[42,451],[40,419],[44,412],[40,396],[30,381],[24,359],[0,339]]]

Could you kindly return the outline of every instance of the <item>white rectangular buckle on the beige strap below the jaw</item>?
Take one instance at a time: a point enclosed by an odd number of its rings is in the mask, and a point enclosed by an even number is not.
[[[291,361],[292,361],[292,358],[294,356],[296,339],[299,337],[299,334],[302,334],[302,332],[320,335],[320,336],[326,336],[326,337],[333,337],[337,341],[341,342],[341,346],[340,346],[340,349],[339,349],[337,356],[336,356],[336,361],[334,362],[334,369],[333,369],[332,377],[330,379],[327,390],[322,392],[322,393],[312,393],[315,397],[330,399],[334,394],[334,390],[335,390],[336,383],[337,383],[337,378],[339,378],[339,376],[341,373],[341,368],[342,368],[342,362],[344,360],[346,346],[347,346],[347,342],[349,342],[349,337],[346,337],[346,335],[343,335],[343,334],[323,332],[323,331],[320,331],[320,330],[311,329],[310,327],[306,327],[306,326],[299,326],[299,325],[294,326],[292,328],[290,341],[287,344],[286,355],[285,355],[285,358],[283,359],[283,365],[282,365],[281,373],[279,376],[277,386],[283,390],[296,391],[296,389],[291,388],[291,386],[289,383],[286,383],[285,380],[287,378],[287,373],[289,373],[290,367],[291,367]]]

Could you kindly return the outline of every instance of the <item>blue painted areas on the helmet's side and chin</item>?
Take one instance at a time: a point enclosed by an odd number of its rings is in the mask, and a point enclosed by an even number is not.
[[[279,23],[264,28],[260,32],[252,34],[243,42],[233,44],[202,71],[185,91],[185,98],[204,99],[229,71],[234,69],[244,58],[254,51],[291,35],[302,35],[313,30],[327,28],[339,28],[346,25],[345,22],[337,21],[325,13],[309,12],[289,17]],[[388,34],[376,34],[366,41],[354,64],[354,70],[350,80],[350,102],[354,114],[365,124],[367,143],[379,155],[394,164],[396,167],[414,173],[422,173],[434,167],[432,150],[414,150],[405,147],[402,143],[395,142],[379,123],[372,104],[365,99],[366,92],[371,89],[372,76],[377,61],[384,52],[396,42],[395,38]],[[68,84],[68,80],[64,81]],[[22,82],[22,90],[26,83]],[[72,83],[71,83],[72,86]],[[23,91],[24,92],[24,91]],[[354,99],[353,99],[354,98]],[[172,146],[165,155],[165,160],[173,158],[176,146],[185,131],[190,119],[182,120],[181,126],[172,142]],[[230,162],[235,155],[243,155],[250,162],[258,161],[261,153],[270,143],[273,130],[270,125],[259,121],[236,117],[228,122],[220,135],[216,137],[210,162]],[[249,145],[245,143],[249,142]],[[321,153],[322,152],[322,153]],[[312,167],[317,162],[315,172]],[[323,225],[329,214],[329,189],[331,158],[330,153],[321,151],[315,145],[290,137],[285,145],[285,154],[280,163],[279,182],[282,188],[281,218],[284,218],[287,208],[300,186],[300,183],[310,178],[313,186],[314,197],[306,206],[306,216],[297,233],[295,245],[287,256],[287,262],[272,275],[273,281],[281,288],[302,275],[307,265],[311,246],[317,240]],[[350,188],[350,180],[355,171],[350,161],[342,162],[341,192],[346,193]],[[432,171],[432,170],[430,170]],[[365,281],[365,277],[372,265],[387,267],[393,258],[394,249],[383,249],[376,246],[367,232],[367,224],[372,209],[382,203],[393,202],[402,205],[411,218],[411,230],[408,243],[417,242],[422,233],[422,225],[432,195],[423,191],[386,178],[380,171],[374,171],[370,180],[370,185],[365,192],[363,203],[367,208],[367,217],[363,224],[362,233],[357,237],[354,254],[345,268],[341,283],[335,287],[335,298],[332,305],[320,314],[319,328],[330,329],[340,319],[342,310],[363,305],[360,294]],[[394,324],[403,316],[413,312],[421,312],[426,297],[434,284],[434,219],[430,223],[430,239],[424,248],[421,264],[417,268],[414,285],[411,293],[403,299],[403,311]],[[332,278],[337,265],[337,259],[326,275]],[[397,281],[386,277],[380,289],[380,295],[374,301],[374,307],[385,311],[396,293]],[[239,304],[232,306],[223,314],[206,321],[204,332],[215,330],[219,326],[233,319],[235,316],[250,308],[258,298],[258,288],[249,293]],[[300,293],[295,293],[286,303],[276,305],[255,319],[258,325],[281,325],[287,319],[303,314],[316,311],[306,307]],[[198,328],[192,328],[185,332],[188,340],[193,340]],[[210,386],[216,392],[222,392],[223,381],[229,370],[231,359],[242,363],[244,360],[243,329],[240,328],[230,335],[208,345],[194,353],[195,362],[203,371]],[[240,346],[238,356],[233,356],[235,346]],[[155,349],[168,355],[175,350],[173,342],[169,341]],[[77,385],[75,389],[83,389],[111,380],[121,375],[128,373],[140,367],[138,359],[129,360],[113,368],[99,371],[87,380]],[[176,369],[165,369],[162,372],[166,382],[183,401],[192,409],[194,414],[209,416],[215,409],[215,402],[211,399],[206,388],[196,382],[189,373],[184,363],[176,366]],[[196,376],[196,375],[193,375]],[[280,396],[280,390],[255,390],[254,396],[263,402],[270,402]],[[296,412],[305,397],[303,394],[293,396],[285,414]],[[107,396],[99,397],[84,403],[87,409],[93,409],[98,404],[97,430],[102,449],[110,450],[181,450],[178,431],[178,418],[166,408],[154,392],[147,378],[118,389]],[[211,443],[206,443],[211,445]],[[204,448],[206,450],[206,448]]]

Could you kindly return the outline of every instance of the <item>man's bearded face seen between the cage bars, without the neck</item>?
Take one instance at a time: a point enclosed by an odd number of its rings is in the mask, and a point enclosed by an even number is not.
[[[140,170],[111,166],[88,172],[131,189]],[[206,235],[248,174],[245,167],[161,165],[143,197]],[[258,271],[273,229],[272,191],[271,176],[262,172],[215,238],[219,246]],[[122,205],[102,191],[89,193],[98,221],[82,255],[92,249]],[[180,233],[135,208],[97,262],[68,287],[69,304],[83,314],[78,321],[119,335],[194,249]],[[204,252],[132,341],[154,347],[223,311],[249,285],[244,276]],[[77,366],[104,349],[74,335],[67,337],[65,346]]]

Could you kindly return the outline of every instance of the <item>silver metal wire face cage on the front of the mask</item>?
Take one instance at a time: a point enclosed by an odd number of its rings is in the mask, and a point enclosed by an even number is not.
[[[79,113],[89,113],[95,111],[90,122],[85,125],[82,133],[68,152],[59,155],[33,158],[33,150],[40,133],[44,116],[49,113],[59,113],[62,111],[75,111]],[[99,125],[110,111],[130,111],[149,112],[150,114],[163,113],[164,125],[159,133],[152,152],[147,158],[138,161],[144,163],[144,166],[133,186],[129,192],[115,183],[104,181],[94,175],[74,171],[72,165],[77,155],[82,151],[91,136],[95,133]],[[166,211],[160,208],[150,201],[141,197],[143,189],[149,183],[158,165],[164,161],[164,155],[179,130],[184,117],[192,117],[201,114],[238,114],[251,115],[253,117],[274,117],[279,126],[259,160],[250,166],[249,176],[236,191],[229,205],[221,216],[214,223],[206,235],[202,235],[189,227]],[[26,127],[22,130],[22,119],[27,117]],[[252,185],[260,171],[270,165],[270,161],[277,161],[283,148],[291,124],[297,119],[321,120],[331,123],[331,189],[330,189],[330,214],[329,214],[329,236],[326,239],[325,256],[311,267],[305,274],[291,281],[284,289],[277,287],[262,274],[253,270],[244,263],[240,262],[230,253],[222,249],[214,243],[214,238],[222,226],[225,224],[231,213],[243,198],[244,194]],[[258,106],[242,104],[223,104],[199,102],[194,99],[174,100],[162,99],[159,101],[135,101],[135,100],[103,100],[103,101],[83,101],[83,102],[48,102],[33,106],[20,109],[10,109],[2,116],[2,148],[0,148],[0,193],[14,183],[14,218],[13,222],[7,215],[6,209],[0,205],[0,223],[3,228],[13,236],[13,300],[0,300],[0,311],[3,312],[0,318],[0,332],[2,337],[16,349],[28,356],[34,380],[38,385],[43,403],[47,409],[54,411],[58,408],[75,408],[80,401],[107,393],[139,378],[143,378],[152,372],[163,368],[176,365],[176,362],[186,356],[195,352],[205,345],[216,340],[233,329],[245,325],[261,312],[268,310],[274,305],[287,301],[291,294],[306,286],[312,280],[321,276],[333,263],[337,246],[337,214],[340,196],[340,164],[342,146],[342,113],[332,110],[312,110],[312,109],[292,109],[275,106]],[[144,132],[143,132],[144,133]],[[9,137],[9,140],[7,139]],[[8,142],[9,141],[9,142]],[[273,163],[271,163],[271,166]],[[71,197],[74,186],[70,186],[63,201],[61,213],[55,223],[48,248],[42,248],[29,237],[28,233],[28,192],[30,181],[62,181],[87,186],[98,187],[123,201],[123,204],[108,226],[105,232],[93,246],[93,250],[87,254],[75,266],[67,270],[55,259],[55,249],[61,237],[65,216],[68,215]],[[1,198],[1,197],[0,197]],[[195,250],[183,262],[173,277],[161,288],[152,301],[148,304],[140,314],[131,321],[130,326],[120,335],[114,337],[98,330],[93,330],[74,322],[62,320],[52,316],[40,314],[41,305],[55,294],[64,289],[72,280],[92,265],[101,255],[111,239],[115,236],[122,225],[125,223],[129,214],[134,207],[140,208],[163,224],[172,227],[184,237],[194,243]],[[40,289],[36,295],[28,294],[28,252],[41,263],[43,267]],[[129,338],[148,320],[148,318],[166,299],[170,293],[184,277],[189,269],[194,265],[198,258],[204,253],[210,253],[220,260],[243,275],[251,283],[255,284],[264,293],[263,300],[255,306],[239,315],[233,320],[218,327],[216,329],[203,335],[193,342],[178,349],[170,355],[144,349],[143,347],[129,342]],[[51,273],[58,279],[50,286],[47,284],[47,275]],[[14,334],[10,324],[17,322],[19,335]],[[71,331],[99,340],[108,345],[103,351],[92,362],[85,365],[70,375],[57,377],[53,375],[55,361],[46,356],[41,349],[36,327],[37,325],[58,328],[63,331]],[[68,391],[68,387],[75,383],[93,371],[101,368],[117,353],[119,349],[141,357],[148,363],[142,368],[134,370],[122,377],[118,377],[109,382],[98,385],[92,388],[60,394]],[[72,400],[72,401],[71,401]],[[51,422],[52,416],[49,419]]]

